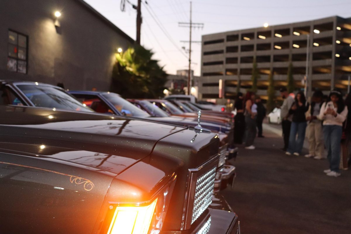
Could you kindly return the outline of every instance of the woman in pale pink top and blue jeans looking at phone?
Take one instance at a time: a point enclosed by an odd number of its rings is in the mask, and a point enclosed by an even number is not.
[[[319,118],[323,120],[323,136],[327,149],[329,169],[324,170],[328,176],[340,176],[340,142],[343,122],[346,120],[347,106],[341,93],[333,89],[329,101],[320,108]]]

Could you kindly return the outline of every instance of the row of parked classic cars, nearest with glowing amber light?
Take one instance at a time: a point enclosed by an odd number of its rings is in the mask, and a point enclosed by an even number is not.
[[[38,82],[0,93],[1,233],[240,233],[217,193],[233,116]]]

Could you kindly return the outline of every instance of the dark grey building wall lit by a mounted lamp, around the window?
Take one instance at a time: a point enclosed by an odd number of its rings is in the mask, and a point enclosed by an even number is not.
[[[133,43],[80,0],[1,0],[0,22],[0,79],[108,90],[116,49]],[[9,29],[28,36],[27,74],[7,69]]]

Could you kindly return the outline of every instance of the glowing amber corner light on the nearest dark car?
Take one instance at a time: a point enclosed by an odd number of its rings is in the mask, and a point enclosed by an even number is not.
[[[147,206],[121,206],[115,209],[107,234],[147,234],[157,199]]]

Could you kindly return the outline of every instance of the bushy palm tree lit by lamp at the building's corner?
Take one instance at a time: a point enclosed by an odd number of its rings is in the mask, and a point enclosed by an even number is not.
[[[163,96],[166,72],[152,59],[152,51],[142,46],[116,54],[111,90],[125,98],[159,98]]]

